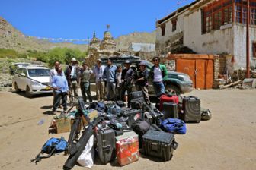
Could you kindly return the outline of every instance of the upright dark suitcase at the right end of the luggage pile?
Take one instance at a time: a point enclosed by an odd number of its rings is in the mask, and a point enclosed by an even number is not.
[[[200,122],[200,99],[195,96],[184,97],[182,101],[181,119],[185,122]]]

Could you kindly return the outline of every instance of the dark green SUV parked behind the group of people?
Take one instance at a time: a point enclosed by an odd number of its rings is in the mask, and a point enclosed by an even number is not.
[[[133,55],[121,55],[115,57],[103,57],[101,58],[102,65],[107,65],[107,59],[110,58],[113,65],[123,65],[126,60],[131,63],[131,68],[135,71],[138,70],[138,65],[140,61],[146,62],[146,68],[152,68],[152,62],[142,60],[141,58]],[[192,80],[187,74],[179,73],[175,71],[168,71],[168,75],[164,79],[165,90],[174,90],[177,94],[189,93],[192,90]],[[134,86],[133,86],[134,87]],[[155,95],[154,89],[152,87],[152,80],[149,80],[149,95]]]

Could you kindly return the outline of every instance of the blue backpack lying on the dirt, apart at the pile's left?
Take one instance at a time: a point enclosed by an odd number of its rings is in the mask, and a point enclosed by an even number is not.
[[[37,164],[37,162],[40,162],[41,159],[49,158],[54,153],[61,153],[66,150],[68,146],[67,141],[64,139],[64,137],[61,138],[55,138],[52,137],[50,140],[47,140],[46,143],[44,143],[41,152],[36,156],[35,159],[32,159],[31,162],[34,162]],[[47,153],[46,156],[40,156],[43,153]]]

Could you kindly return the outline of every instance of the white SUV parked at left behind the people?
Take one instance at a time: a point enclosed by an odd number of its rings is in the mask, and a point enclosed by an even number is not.
[[[28,65],[18,68],[12,79],[14,90],[16,92],[25,90],[27,97],[34,94],[53,93],[53,90],[46,85],[50,85],[50,69],[46,67]]]

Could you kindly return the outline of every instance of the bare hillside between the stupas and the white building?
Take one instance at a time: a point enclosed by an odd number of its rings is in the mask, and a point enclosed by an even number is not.
[[[155,44],[155,31],[152,33],[130,33],[119,36],[115,41],[117,42],[117,49],[127,49],[132,42]]]

